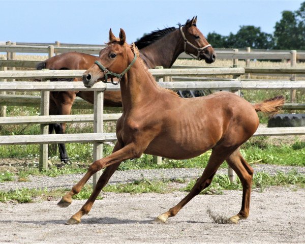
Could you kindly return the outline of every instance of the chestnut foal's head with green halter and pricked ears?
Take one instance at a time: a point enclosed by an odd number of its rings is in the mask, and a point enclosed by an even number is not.
[[[84,86],[92,87],[97,81],[107,83],[108,78],[117,77],[119,80],[131,68],[136,60],[136,55],[129,61],[127,55],[126,35],[120,29],[119,38],[116,38],[111,29],[109,31],[109,42],[107,47],[100,51],[100,56],[95,64],[86,70],[82,75]]]

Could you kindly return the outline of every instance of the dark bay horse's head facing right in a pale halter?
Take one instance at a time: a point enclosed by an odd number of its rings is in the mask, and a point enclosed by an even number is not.
[[[184,39],[184,50],[198,60],[204,59],[211,64],[216,60],[216,53],[196,26],[197,16],[181,25],[180,32]]]

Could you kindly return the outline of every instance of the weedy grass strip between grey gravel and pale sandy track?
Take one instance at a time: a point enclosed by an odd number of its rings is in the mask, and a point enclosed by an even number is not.
[[[149,180],[142,178],[127,184],[108,185],[103,189],[103,192],[114,193],[159,193],[166,194],[174,191],[189,192],[195,184],[195,180],[191,180],[186,187],[172,187],[171,182],[184,184],[185,179],[174,180]],[[288,174],[278,172],[275,175],[269,175],[264,172],[259,172],[254,175],[253,185],[254,189],[264,191],[270,186],[290,186],[294,185],[293,190],[297,188],[304,188],[305,175],[292,171]],[[223,194],[224,190],[241,190],[240,180],[237,178],[236,182],[231,183],[227,175],[216,175],[212,180],[211,185],[203,190],[200,194]],[[17,189],[12,191],[0,191],[0,202],[17,201],[18,203],[28,203],[33,201],[57,200],[63,196],[70,189]],[[92,193],[92,185],[85,185],[81,192],[73,199],[82,200],[88,199]],[[97,199],[101,200],[103,197],[99,196]]]

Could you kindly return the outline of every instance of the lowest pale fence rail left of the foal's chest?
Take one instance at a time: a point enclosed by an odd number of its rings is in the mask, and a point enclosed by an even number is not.
[[[115,133],[79,133],[50,135],[0,136],[0,145],[26,145],[44,143],[88,143],[116,141]]]

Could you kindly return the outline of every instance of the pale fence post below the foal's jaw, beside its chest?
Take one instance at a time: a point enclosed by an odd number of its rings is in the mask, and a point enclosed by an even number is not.
[[[104,109],[104,92],[101,90],[94,92],[94,133],[103,132],[103,109]],[[97,161],[103,158],[103,144],[99,142],[93,143],[93,161]],[[97,182],[102,174],[102,171],[98,171],[93,175],[93,187],[97,185]]]

